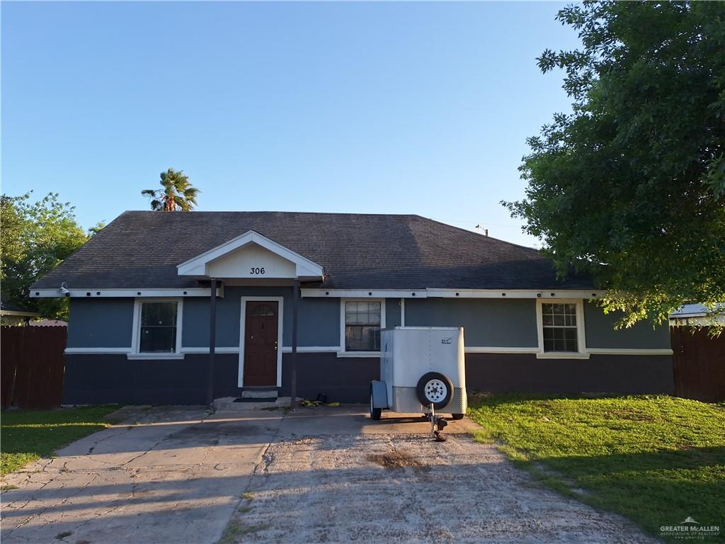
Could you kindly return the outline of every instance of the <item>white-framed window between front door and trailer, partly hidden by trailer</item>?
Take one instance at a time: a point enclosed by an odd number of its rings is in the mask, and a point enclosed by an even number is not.
[[[340,300],[341,355],[379,355],[384,328],[385,299]]]

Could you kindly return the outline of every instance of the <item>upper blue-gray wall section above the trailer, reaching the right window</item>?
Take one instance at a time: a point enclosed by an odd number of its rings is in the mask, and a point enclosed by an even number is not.
[[[406,299],[406,326],[463,326],[471,347],[537,347],[536,300]]]

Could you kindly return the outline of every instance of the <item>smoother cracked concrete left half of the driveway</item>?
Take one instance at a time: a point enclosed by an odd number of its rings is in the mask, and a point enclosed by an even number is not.
[[[282,413],[208,416],[202,408],[130,411],[3,478],[1,540],[213,543],[219,539]]]

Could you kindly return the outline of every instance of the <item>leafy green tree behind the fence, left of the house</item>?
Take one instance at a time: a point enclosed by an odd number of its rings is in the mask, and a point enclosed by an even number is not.
[[[30,285],[88,241],[102,224],[86,234],[74,207],[50,193],[30,202],[30,193],[0,199],[0,291],[3,300],[33,308],[41,316],[68,318],[67,299],[30,299]]]

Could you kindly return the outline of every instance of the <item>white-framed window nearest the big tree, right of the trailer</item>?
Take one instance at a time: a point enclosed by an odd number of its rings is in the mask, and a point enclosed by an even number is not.
[[[589,358],[581,299],[537,300],[538,358]]]

